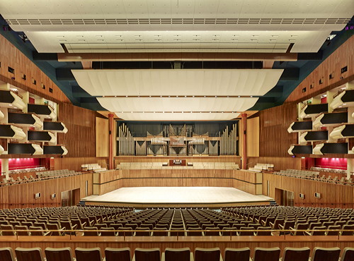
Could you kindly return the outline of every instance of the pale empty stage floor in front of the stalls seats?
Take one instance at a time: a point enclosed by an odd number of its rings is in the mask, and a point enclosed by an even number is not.
[[[88,205],[130,205],[135,207],[220,207],[227,205],[269,205],[271,198],[252,195],[236,188],[138,187],[119,188],[83,200]]]

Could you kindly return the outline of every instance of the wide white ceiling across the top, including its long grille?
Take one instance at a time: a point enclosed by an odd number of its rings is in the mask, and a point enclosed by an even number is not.
[[[8,25],[25,32],[39,52],[64,52],[60,44],[65,44],[77,53],[218,51],[220,47],[282,52],[290,43],[292,52],[316,52],[332,31],[343,29],[353,9],[353,0],[0,1]],[[130,31],[136,32],[133,41],[125,35]],[[248,42],[243,42],[242,32],[252,36],[246,37]],[[264,38],[262,32],[270,33]],[[194,35],[192,42],[187,42],[188,34]],[[286,42],[277,37],[287,38]]]

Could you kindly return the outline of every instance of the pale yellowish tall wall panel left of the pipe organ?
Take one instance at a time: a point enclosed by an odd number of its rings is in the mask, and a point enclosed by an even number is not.
[[[96,117],[96,157],[108,157],[108,119],[98,117]]]

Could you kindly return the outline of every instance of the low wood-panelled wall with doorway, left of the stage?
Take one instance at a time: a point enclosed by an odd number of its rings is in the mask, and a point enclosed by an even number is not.
[[[88,195],[92,195],[93,176],[91,173],[3,186],[0,187],[0,207],[59,207],[62,191],[80,188],[80,198],[86,197],[86,181],[89,183]],[[41,193],[41,197],[37,200],[35,193]],[[50,195],[54,193],[57,194],[57,198],[52,200]]]

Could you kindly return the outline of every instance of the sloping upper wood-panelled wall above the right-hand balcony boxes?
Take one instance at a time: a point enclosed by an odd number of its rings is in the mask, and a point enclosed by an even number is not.
[[[334,87],[340,86],[353,80],[354,75],[354,36],[344,42],[336,51],[324,60],[296,89],[287,97],[285,102],[301,102],[304,99],[309,99],[316,95],[331,90]],[[341,73],[341,68],[348,66],[346,73]],[[332,74],[333,78],[329,79]],[[319,80],[323,79],[320,85]],[[310,85],[313,87],[310,88]],[[306,87],[306,92],[302,89]]]

